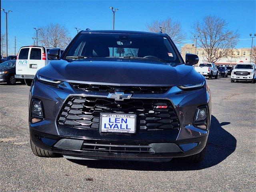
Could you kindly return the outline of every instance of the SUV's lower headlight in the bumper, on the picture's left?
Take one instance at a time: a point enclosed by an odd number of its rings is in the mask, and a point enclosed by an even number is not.
[[[36,123],[44,119],[42,101],[32,99],[30,106],[30,122]]]

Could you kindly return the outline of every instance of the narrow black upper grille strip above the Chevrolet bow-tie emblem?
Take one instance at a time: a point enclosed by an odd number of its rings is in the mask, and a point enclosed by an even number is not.
[[[163,94],[167,92],[168,86],[112,86],[112,85],[93,85],[70,83],[76,90],[92,92],[124,92],[124,93],[141,93],[141,94]]]

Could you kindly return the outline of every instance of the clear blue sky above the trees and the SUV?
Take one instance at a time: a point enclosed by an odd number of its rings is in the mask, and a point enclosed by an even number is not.
[[[232,30],[240,33],[240,47],[250,47],[250,33],[256,33],[256,1],[72,1],[72,0],[2,0],[1,8],[12,10],[8,14],[8,54],[14,54],[14,36],[17,39],[17,50],[20,46],[33,44],[33,27],[60,23],[74,37],[74,27],[93,30],[111,30],[112,12],[109,6],[119,9],[116,12],[115,29],[146,30],[145,25],[152,20],[168,17],[178,20],[187,39],[191,43],[191,25],[212,14],[225,19]],[[5,14],[1,11],[1,31],[5,32]],[[254,40],[254,45],[256,39]],[[17,52],[16,50],[16,52]]]

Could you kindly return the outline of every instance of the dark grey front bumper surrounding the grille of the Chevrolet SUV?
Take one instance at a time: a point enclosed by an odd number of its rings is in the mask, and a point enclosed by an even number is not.
[[[209,130],[196,128],[193,125],[193,120],[197,107],[207,105],[210,122],[212,106],[208,87],[184,92],[174,86],[165,94],[134,94],[132,98],[170,100],[180,121],[180,128],[176,130],[138,131],[136,134],[100,133],[99,130],[57,126],[56,120],[60,109],[66,98],[71,95],[107,97],[108,94],[74,90],[67,82],[60,84],[59,87],[53,87],[37,81],[32,84],[30,101],[32,98],[40,99],[44,108],[44,120],[29,124],[30,136],[36,146],[51,152],[64,154],[65,156],[80,158],[165,161],[173,157],[197,154],[206,145]],[[64,141],[63,139],[68,139],[69,142],[65,145],[60,145]],[[152,151],[146,154],[84,151],[81,150],[84,140],[118,141],[137,144],[146,142],[152,146]],[[68,146],[70,144],[72,146]]]

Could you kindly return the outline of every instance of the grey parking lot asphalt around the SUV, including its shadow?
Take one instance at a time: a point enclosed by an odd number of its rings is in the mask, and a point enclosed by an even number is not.
[[[256,191],[256,84],[207,81],[212,121],[200,164],[36,157],[29,87],[1,83],[0,191]]]

